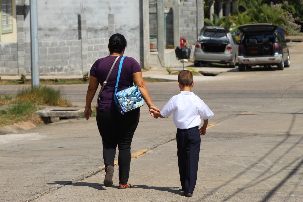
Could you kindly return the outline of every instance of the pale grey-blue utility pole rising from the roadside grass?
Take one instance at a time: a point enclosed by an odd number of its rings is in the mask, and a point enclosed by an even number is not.
[[[37,0],[30,0],[30,44],[31,44],[31,76],[32,88],[39,87],[39,39]]]

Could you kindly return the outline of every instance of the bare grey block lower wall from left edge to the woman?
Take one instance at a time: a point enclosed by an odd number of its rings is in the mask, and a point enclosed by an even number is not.
[[[81,40],[40,41],[39,72],[40,75],[81,75],[89,72],[93,63],[109,55],[108,38],[87,39],[88,58],[86,70],[82,69]],[[17,43],[0,43],[0,74],[18,75]],[[20,51],[19,51],[20,52]],[[31,74],[30,43],[24,43],[22,74]]]

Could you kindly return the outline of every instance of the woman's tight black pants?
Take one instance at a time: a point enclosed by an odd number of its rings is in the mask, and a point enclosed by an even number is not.
[[[119,184],[127,184],[131,159],[131,141],[140,119],[140,109],[121,115],[118,110],[97,110],[97,125],[102,137],[105,168],[114,166],[118,146]]]

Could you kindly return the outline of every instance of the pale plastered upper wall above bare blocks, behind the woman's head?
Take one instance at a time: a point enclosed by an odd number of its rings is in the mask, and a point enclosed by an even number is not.
[[[146,0],[144,0],[146,1]],[[17,6],[29,6],[29,0],[16,0]],[[139,3],[140,2],[140,3]],[[141,62],[143,58],[141,46],[141,2],[142,0],[111,0],[111,1],[37,1],[39,40],[77,40],[79,35],[79,19],[81,14],[81,35],[87,39],[109,37],[111,33],[123,34],[127,40],[126,54]],[[22,11],[22,10],[21,10]],[[109,15],[114,14],[114,15]],[[25,42],[30,42],[29,11],[19,12],[24,15]],[[86,25],[84,25],[85,15]],[[86,29],[86,31],[84,31]],[[86,33],[84,33],[86,32]],[[85,42],[84,42],[85,43]],[[83,44],[84,44],[83,43]],[[79,47],[81,48],[81,46]],[[83,48],[83,46],[82,46]],[[85,55],[83,48],[83,59]],[[86,65],[83,67],[85,71]]]

